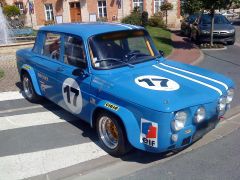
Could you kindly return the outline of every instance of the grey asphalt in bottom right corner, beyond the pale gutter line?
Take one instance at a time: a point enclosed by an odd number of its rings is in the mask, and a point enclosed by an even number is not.
[[[135,172],[122,180],[239,180],[240,130],[170,161]]]

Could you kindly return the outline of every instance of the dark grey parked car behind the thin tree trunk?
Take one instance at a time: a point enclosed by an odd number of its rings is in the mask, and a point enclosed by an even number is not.
[[[202,14],[192,25],[191,39],[196,43],[210,42],[211,16]],[[233,45],[235,43],[235,28],[221,14],[214,16],[213,41]]]

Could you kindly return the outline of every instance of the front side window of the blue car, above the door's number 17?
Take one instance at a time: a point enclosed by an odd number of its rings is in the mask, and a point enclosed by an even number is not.
[[[82,39],[78,37],[64,37],[64,63],[85,69],[86,55]]]

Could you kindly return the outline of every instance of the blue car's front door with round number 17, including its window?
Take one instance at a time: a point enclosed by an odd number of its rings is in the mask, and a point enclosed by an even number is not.
[[[80,37],[63,37],[64,68],[58,74],[62,101],[59,105],[82,119],[89,119],[91,104],[90,82],[84,43]]]

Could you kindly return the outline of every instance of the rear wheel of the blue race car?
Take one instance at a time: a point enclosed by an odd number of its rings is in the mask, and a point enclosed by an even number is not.
[[[24,73],[22,75],[21,80],[22,80],[22,86],[23,86],[23,94],[26,97],[26,99],[30,102],[39,101],[40,97],[37,95],[37,93],[34,90],[30,76],[27,73]]]

